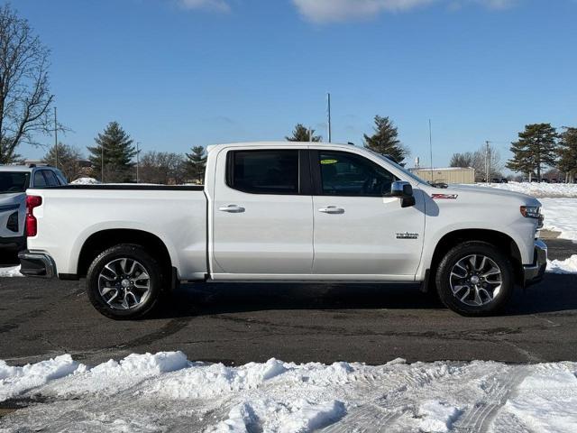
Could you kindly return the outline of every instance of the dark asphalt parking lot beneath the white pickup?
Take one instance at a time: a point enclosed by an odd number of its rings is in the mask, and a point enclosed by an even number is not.
[[[577,253],[548,244],[554,259]],[[0,297],[0,359],[10,364],[161,350],[225,364],[577,360],[577,275],[547,274],[494,318],[462,318],[417,287],[375,284],[188,284],[152,318],[129,322],[100,316],[84,281],[4,278]]]

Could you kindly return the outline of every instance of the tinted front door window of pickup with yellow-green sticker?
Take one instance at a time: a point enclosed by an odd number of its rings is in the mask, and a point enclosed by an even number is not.
[[[327,196],[382,197],[396,179],[380,165],[348,152],[318,152],[322,191]]]

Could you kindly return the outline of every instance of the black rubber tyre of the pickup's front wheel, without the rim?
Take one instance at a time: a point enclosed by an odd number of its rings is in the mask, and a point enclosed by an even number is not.
[[[451,286],[451,278],[453,278],[453,286],[455,288],[461,287],[454,281],[471,281],[466,280],[467,276],[463,278],[463,280],[457,280],[460,276],[451,275],[451,272],[454,270],[461,270],[462,268],[458,268],[457,263],[463,264],[463,260],[471,262],[473,255],[478,255],[479,259],[482,262],[482,257],[487,257],[495,263],[499,267],[500,274],[496,278],[499,280],[500,277],[500,288],[498,293],[490,299],[489,297],[483,296],[479,299],[486,301],[487,303],[484,305],[470,305],[469,303],[475,303],[478,300],[474,298],[474,287],[472,285],[466,285],[463,287],[462,291],[453,294],[453,289]],[[475,267],[472,266],[468,271],[463,270],[463,274],[471,275],[477,274],[475,273]],[[481,272],[478,272],[481,273]],[[479,278],[479,277],[478,277]],[[486,277],[489,281],[490,277]],[[472,277],[471,277],[472,279]],[[477,281],[477,280],[475,280]],[[482,283],[482,281],[481,281]],[[494,282],[491,281],[492,284]],[[444,255],[443,260],[439,263],[439,267],[435,274],[435,284],[436,289],[439,294],[439,298],[444,303],[446,307],[452,309],[454,312],[462,315],[462,316],[469,316],[469,317],[482,317],[482,316],[491,316],[494,314],[499,313],[508,303],[508,300],[511,298],[513,294],[513,290],[515,288],[515,279],[513,273],[513,266],[511,262],[508,260],[507,256],[504,253],[501,253],[497,247],[492,244],[480,241],[471,241],[465,242],[463,244],[458,244],[454,246],[448,253]],[[498,285],[490,286],[487,284],[487,287],[497,287]],[[481,284],[479,286],[481,288]],[[481,290],[483,290],[481,288]],[[484,295],[485,292],[490,292],[490,290],[485,290],[482,294]],[[463,294],[469,294],[468,297],[465,297],[463,301],[460,297]],[[484,299],[483,299],[484,298]],[[490,300],[489,300],[490,299]],[[469,302],[469,303],[467,303]]]

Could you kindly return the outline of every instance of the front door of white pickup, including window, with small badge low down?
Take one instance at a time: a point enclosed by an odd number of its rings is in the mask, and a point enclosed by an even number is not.
[[[420,262],[424,199],[401,207],[387,197],[393,174],[354,152],[311,151],[315,182],[313,273],[410,280]]]

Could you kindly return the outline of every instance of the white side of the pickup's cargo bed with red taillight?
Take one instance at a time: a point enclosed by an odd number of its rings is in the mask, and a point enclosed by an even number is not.
[[[45,251],[59,263],[57,272],[75,276],[82,248],[91,236],[122,236],[141,231],[166,245],[183,280],[203,279],[206,264],[207,199],[204,187],[141,184],[67,185],[29,189],[40,196],[34,209],[38,235],[28,249]]]

